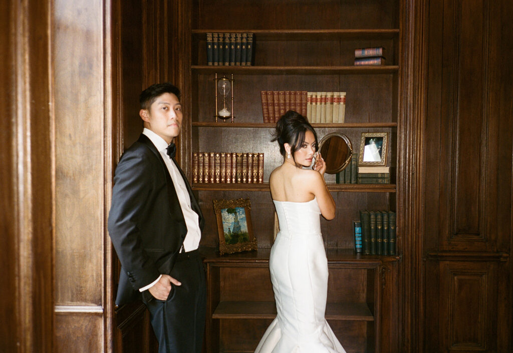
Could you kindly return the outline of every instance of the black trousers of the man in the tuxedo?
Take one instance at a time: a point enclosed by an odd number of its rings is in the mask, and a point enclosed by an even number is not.
[[[159,340],[159,353],[201,353],[205,333],[206,284],[198,250],[180,253],[169,275],[182,285],[171,283],[166,301],[153,297],[144,301]]]

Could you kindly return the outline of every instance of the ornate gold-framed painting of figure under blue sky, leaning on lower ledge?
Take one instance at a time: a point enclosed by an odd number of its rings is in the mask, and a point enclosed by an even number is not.
[[[234,253],[257,250],[257,239],[251,224],[249,199],[214,200],[215,218],[218,221],[219,252]]]

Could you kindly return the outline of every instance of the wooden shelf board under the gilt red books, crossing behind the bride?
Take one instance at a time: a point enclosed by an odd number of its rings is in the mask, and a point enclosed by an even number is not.
[[[344,192],[396,192],[395,184],[327,184],[329,191]],[[269,183],[264,184],[212,184],[193,183],[193,190],[203,191],[269,191]]]

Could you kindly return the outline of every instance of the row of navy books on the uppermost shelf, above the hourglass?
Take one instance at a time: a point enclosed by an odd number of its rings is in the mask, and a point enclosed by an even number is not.
[[[207,33],[207,65],[253,65],[253,33]]]

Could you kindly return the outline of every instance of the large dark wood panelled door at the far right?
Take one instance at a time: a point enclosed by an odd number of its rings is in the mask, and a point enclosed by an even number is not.
[[[511,350],[513,3],[426,2],[426,352]]]

